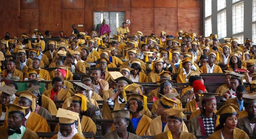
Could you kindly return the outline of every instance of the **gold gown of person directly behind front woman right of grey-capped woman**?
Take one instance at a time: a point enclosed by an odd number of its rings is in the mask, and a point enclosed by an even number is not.
[[[188,132],[187,126],[186,124],[182,121],[181,123],[181,127],[180,127],[181,131],[184,132]],[[164,127],[164,132],[169,131],[168,125],[166,123],[165,127]],[[148,130],[147,130],[147,134],[148,136],[155,136],[157,134],[162,133],[162,120],[161,120],[161,115],[157,116],[155,119],[152,120],[152,122],[150,123]]]

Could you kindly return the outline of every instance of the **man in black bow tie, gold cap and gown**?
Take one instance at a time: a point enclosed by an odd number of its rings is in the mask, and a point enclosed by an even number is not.
[[[8,118],[6,117],[8,125],[0,127],[0,138],[38,139],[38,135],[34,131],[22,126],[25,117],[25,109],[27,107],[22,107],[16,104],[7,104],[7,107],[9,110]]]

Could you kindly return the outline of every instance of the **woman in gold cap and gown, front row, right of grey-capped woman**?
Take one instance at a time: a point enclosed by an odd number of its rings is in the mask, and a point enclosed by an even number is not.
[[[195,135],[182,131],[182,119],[183,112],[186,109],[182,108],[169,108],[164,112],[168,115],[167,126],[169,131],[165,131],[163,133],[157,134],[156,139],[169,139],[169,138],[177,138],[177,139],[196,139]]]

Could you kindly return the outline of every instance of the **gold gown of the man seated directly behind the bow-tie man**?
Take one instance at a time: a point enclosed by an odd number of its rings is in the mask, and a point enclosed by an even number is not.
[[[7,120],[5,120],[4,125],[8,125]],[[34,132],[51,132],[47,121],[35,112],[30,112],[26,128],[29,128]]]

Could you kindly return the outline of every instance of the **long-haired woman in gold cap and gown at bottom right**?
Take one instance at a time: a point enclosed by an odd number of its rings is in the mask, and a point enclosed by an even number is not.
[[[215,127],[214,133],[209,136],[208,139],[249,139],[248,135],[236,128],[237,126],[237,112],[238,107],[234,104],[227,104],[222,106],[217,115],[220,115],[220,124]]]

